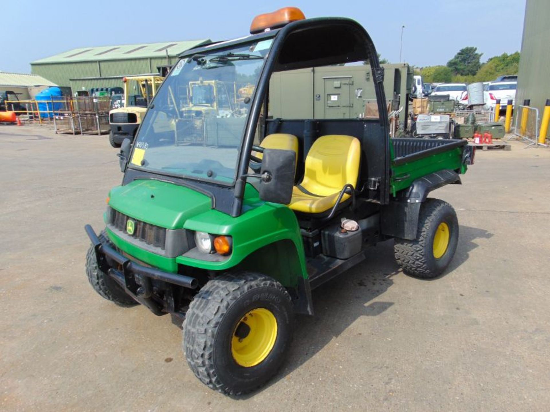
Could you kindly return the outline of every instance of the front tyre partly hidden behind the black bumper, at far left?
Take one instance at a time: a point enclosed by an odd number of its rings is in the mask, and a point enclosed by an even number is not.
[[[105,230],[100,233],[98,238],[102,243],[109,243]],[[102,272],[98,267],[94,245],[90,246],[86,254],[86,275],[94,290],[108,301],[123,307],[130,307],[138,304],[138,302],[131,298],[130,295],[111,278],[111,276]]]

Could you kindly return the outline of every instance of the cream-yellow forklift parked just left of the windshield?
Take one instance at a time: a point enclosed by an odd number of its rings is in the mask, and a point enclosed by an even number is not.
[[[124,104],[109,111],[109,143],[119,148],[124,139],[134,139],[147,105],[155,96],[164,77],[157,75],[126,76],[124,83]]]

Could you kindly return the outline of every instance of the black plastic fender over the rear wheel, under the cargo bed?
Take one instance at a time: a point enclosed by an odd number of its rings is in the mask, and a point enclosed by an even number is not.
[[[445,184],[462,184],[458,173],[441,170],[414,180],[381,210],[381,231],[392,238],[416,239],[420,207],[428,194]]]

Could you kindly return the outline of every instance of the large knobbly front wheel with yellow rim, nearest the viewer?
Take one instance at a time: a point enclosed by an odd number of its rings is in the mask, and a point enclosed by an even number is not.
[[[239,272],[202,287],[183,324],[183,349],[193,373],[228,395],[251,392],[283,363],[293,335],[288,292],[276,280]]]

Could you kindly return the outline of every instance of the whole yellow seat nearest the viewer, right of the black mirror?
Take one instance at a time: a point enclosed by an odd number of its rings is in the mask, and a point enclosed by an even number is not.
[[[304,179],[294,187],[288,206],[304,213],[330,210],[344,185],[355,188],[360,158],[361,144],[355,137],[330,134],[318,138],[307,154]],[[344,194],[340,203],[349,197]]]

